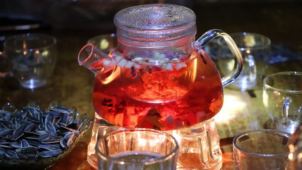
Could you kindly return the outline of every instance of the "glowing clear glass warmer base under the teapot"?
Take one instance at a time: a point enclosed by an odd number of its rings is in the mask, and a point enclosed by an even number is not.
[[[95,156],[97,139],[111,131],[120,129],[120,127],[104,122],[98,114],[95,114],[91,141],[87,152],[87,161],[95,169],[98,169],[98,161]],[[198,133],[188,135],[183,133],[183,130],[166,131],[166,133],[172,134],[179,144],[180,153],[177,170],[219,170],[222,167],[222,153],[214,119],[211,118],[197,126],[187,128],[186,131],[188,130]]]

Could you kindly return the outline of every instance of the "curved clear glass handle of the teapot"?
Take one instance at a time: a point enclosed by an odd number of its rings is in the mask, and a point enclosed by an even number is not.
[[[236,56],[233,72],[221,78],[222,86],[225,87],[236,80],[243,67],[243,59],[236,43],[228,34],[226,34],[226,32],[217,29],[207,31],[196,42],[199,43],[201,47],[204,47],[211,40],[219,36],[223,37],[233,55]]]

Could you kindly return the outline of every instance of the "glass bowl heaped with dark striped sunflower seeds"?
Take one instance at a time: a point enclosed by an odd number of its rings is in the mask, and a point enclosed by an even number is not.
[[[8,108],[8,109],[5,109]],[[0,110],[0,169],[47,169],[69,154],[92,120],[59,101],[41,110],[31,102],[21,110]]]

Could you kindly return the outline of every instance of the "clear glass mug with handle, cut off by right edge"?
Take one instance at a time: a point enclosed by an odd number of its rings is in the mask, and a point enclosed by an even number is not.
[[[278,72],[265,77],[263,104],[278,130],[294,133],[302,120],[302,72]]]

